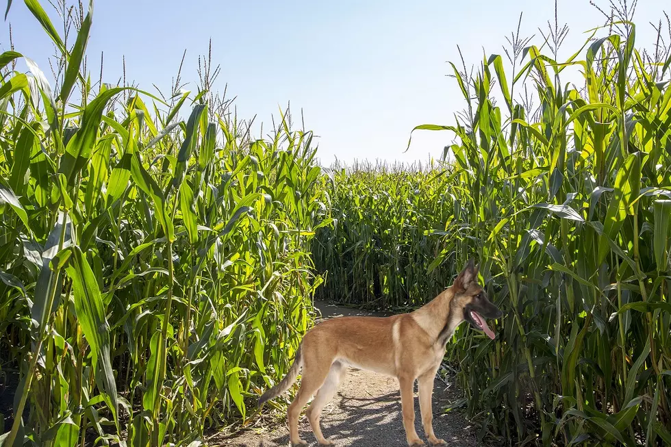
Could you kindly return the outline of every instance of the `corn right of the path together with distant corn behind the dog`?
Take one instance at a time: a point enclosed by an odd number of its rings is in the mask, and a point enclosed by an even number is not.
[[[452,64],[466,110],[416,127],[456,136],[442,166],[334,170],[320,296],[416,307],[481,261],[505,318],[496,340],[464,325],[447,349],[452,407],[481,439],[671,445],[671,58],[635,29],[613,20],[568,60],[560,29],[545,51],[512,36],[473,75]],[[572,68],[583,86],[562,81]]]

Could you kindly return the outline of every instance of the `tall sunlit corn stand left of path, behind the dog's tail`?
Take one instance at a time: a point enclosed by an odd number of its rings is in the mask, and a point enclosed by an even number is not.
[[[54,89],[0,55],[0,343],[21,378],[0,442],[198,445],[312,324],[310,240],[329,223],[312,134],[283,114],[254,140],[205,91],[94,91],[92,3],[72,47],[25,5],[64,75]]]

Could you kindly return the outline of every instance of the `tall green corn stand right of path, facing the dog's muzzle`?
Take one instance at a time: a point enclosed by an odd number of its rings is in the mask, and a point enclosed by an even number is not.
[[[524,62],[511,60],[511,77],[499,55],[474,77],[455,68],[467,113],[417,127],[457,136],[468,194],[455,207],[470,238],[456,253],[477,254],[507,310],[496,340],[463,327],[448,350],[481,437],[671,442],[671,58],[644,62],[634,24],[614,25],[565,62],[515,48]],[[568,66],[584,89],[561,82]],[[529,86],[536,113],[514,101]]]

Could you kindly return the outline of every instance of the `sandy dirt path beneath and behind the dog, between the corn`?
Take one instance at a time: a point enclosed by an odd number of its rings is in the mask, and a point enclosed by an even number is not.
[[[338,307],[328,303],[316,303],[324,318],[343,315],[370,315],[369,313]],[[415,425],[418,435],[426,439],[422,430],[415,386]],[[468,423],[459,411],[442,413],[442,408],[457,400],[461,394],[451,378],[435,379],[433,389],[433,429],[435,435],[448,442],[449,446],[477,446],[474,427]],[[285,418],[286,414],[281,415]],[[285,420],[286,421],[286,420]],[[350,368],[338,394],[335,395],[322,412],[322,431],[325,437],[340,447],[370,446],[394,447],[407,446],[405,431],[401,419],[401,395],[398,381],[388,376],[365,370]],[[299,422],[301,437],[310,446],[317,446],[305,416]],[[289,445],[286,422],[275,430],[268,431],[257,427],[240,435],[224,439],[211,439],[210,445],[239,447],[279,447]]]

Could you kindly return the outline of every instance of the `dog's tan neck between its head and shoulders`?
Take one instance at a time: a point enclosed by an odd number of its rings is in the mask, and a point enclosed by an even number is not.
[[[455,292],[452,288],[447,288],[429,303],[412,313],[417,324],[429,334],[432,340],[440,344],[446,344],[457,326],[464,321],[454,312],[452,306],[454,296]]]

